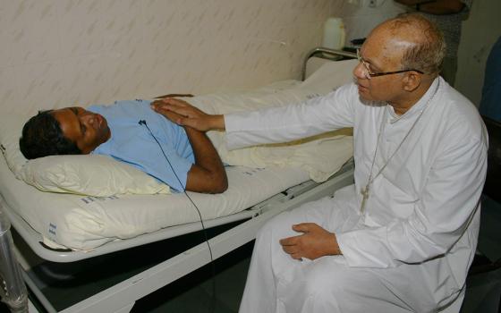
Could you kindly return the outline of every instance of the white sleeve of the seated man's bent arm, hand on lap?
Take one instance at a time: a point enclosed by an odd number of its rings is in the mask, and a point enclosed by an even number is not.
[[[446,254],[460,240],[479,207],[487,170],[485,138],[472,138],[467,127],[461,130],[456,127],[442,141],[443,152],[430,169],[411,216],[336,234],[350,266],[420,263]]]

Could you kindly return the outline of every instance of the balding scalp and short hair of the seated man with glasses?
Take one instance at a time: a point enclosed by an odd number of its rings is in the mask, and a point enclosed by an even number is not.
[[[403,70],[416,69],[436,77],[440,72],[446,43],[437,26],[424,16],[403,14],[385,21],[371,31],[370,37],[401,54]],[[395,51],[395,50],[394,50]]]

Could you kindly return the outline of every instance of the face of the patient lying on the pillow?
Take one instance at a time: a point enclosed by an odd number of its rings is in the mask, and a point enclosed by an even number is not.
[[[89,154],[111,136],[106,119],[82,107],[65,107],[52,111],[64,137],[72,140],[83,154]]]

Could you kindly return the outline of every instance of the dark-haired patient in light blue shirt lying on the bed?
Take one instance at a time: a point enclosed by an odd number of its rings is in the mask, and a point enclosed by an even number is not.
[[[65,107],[30,118],[20,148],[28,159],[96,154],[114,157],[175,190],[220,193],[225,168],[206,134],[171,123],[147,100]]]

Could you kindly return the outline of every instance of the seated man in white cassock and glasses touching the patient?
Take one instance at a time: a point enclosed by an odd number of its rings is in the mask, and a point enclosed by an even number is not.
[[[265,111],[158,109],[230,148],[353,128],[354,185],[284,212],[259,231],[241,312],[458,311],[475,254],[487,133],[438,76],[445,44],[420,15],[369,34],[355,81]]]

